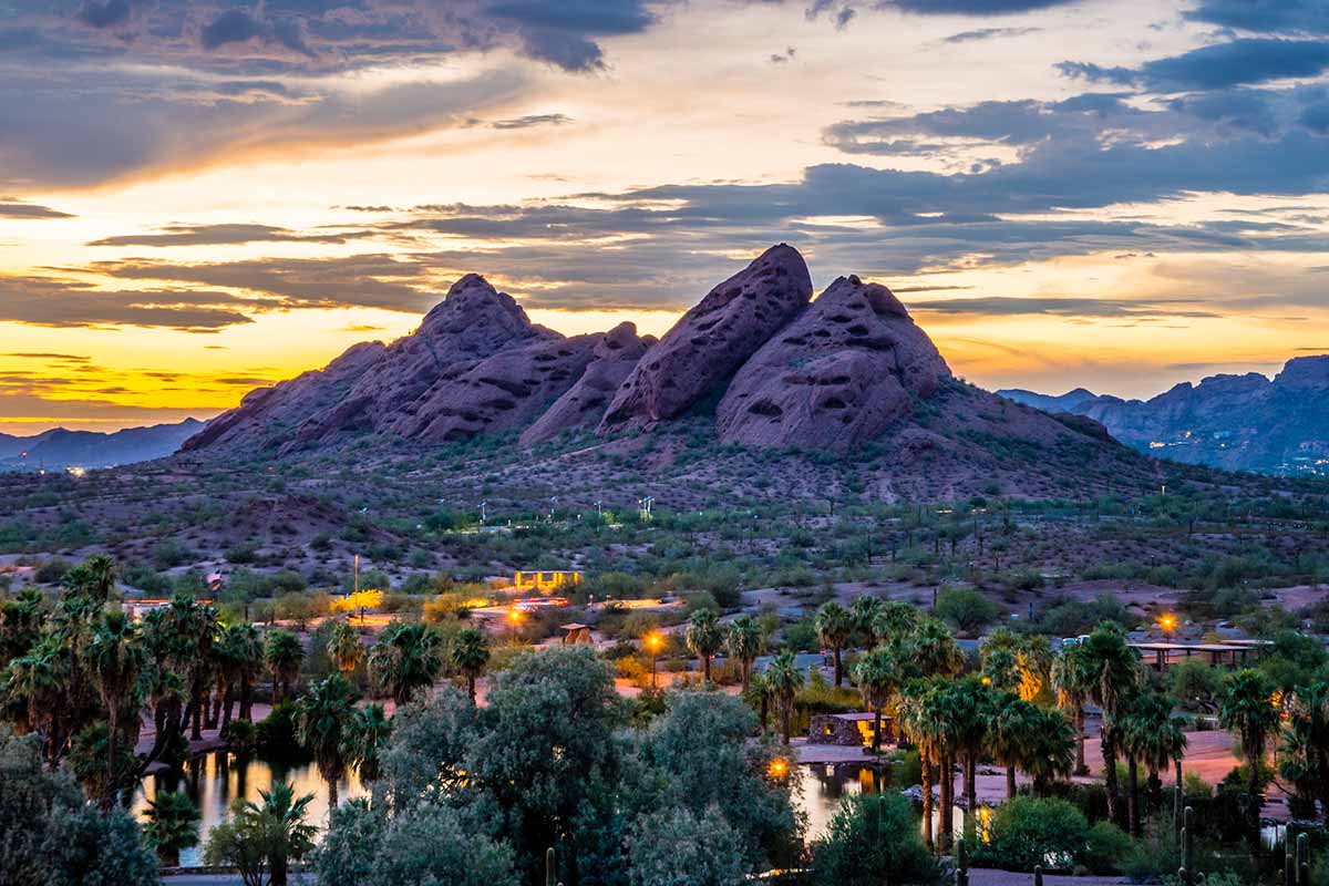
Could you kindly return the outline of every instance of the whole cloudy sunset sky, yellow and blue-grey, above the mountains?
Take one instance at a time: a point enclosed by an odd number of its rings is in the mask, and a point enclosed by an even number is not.
[[[1329,0],[0,0],[0,432],[209,417],[472,271],[659,335],[777,242],[989,388],[1329,352]]]

